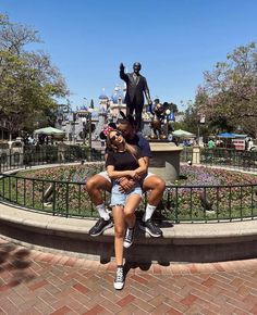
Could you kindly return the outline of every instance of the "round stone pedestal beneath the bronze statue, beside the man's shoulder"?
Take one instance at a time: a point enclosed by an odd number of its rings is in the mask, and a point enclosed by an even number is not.
[[[173,142],[150,141],[152,158],[148,171],[160,176],[167,185],[180,177],[180,153],[183,148]]]

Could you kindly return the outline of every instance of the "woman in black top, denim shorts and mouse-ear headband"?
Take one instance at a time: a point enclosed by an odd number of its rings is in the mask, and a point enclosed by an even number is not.
[[[119,179],[131,177],[139,180],[140,175],[147,172],[144,159],[138,150],[125,142],[122,134],[111,130],[107,135],[108,158],[106,161],[107,172],[112,179],[111,206],[114,220],[114,250],[117,260],[117,276],[114,288],[121,290],[124,286],[123,275],[123,245],[128,248],[133,243],[134,228],[136,223],[135,209],[142,200],[142,188],[138,184],[128,192],[119,190]],[[126,229],[126,227],[128,227]],[[124,238],[124,232],[126,235]],[[124,238],[124,241],[123,241]]]

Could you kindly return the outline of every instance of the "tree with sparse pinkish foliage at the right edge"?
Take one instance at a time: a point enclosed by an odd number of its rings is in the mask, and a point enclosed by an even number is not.
[[[204,79],[196,93],[199,115],[227,130],[241,125],[257,138],[256,43],[236,48],[225,62],[218,62],[212,72],[205,72]]]

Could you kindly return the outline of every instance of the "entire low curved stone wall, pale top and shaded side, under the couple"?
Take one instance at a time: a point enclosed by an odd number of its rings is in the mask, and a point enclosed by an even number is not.
[[[88,231],[94,219],[65,218],[0,203],[0,232],[14,242],[62,250],[109,262],[114,257],[113,228],[99,237]],[[163,222],[163,238],[137,229],[133,247],[124,251],[136,263],[204,263],[257,256],[257,222],[178,224]]]

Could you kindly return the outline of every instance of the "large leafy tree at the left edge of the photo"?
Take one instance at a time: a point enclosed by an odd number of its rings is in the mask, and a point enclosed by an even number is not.
[[[40,127],[54,111],[56,98],[69,93],[50,56],[25,50],[30,42],[39,42],[36,30],[0,15],[0,114],[10,134]]]

